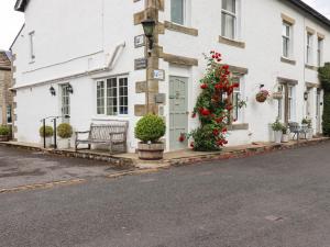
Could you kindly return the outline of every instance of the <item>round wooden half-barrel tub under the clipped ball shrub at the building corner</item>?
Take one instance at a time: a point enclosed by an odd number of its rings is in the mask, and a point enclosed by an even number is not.
[[[165,145],[164,143],[138,144],[139,158],[144,160],[163,159]]]

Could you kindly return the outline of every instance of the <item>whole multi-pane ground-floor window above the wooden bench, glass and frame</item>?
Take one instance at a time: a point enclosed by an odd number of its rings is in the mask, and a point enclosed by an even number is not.
[[[128,78],[109,78],[97,81],[97,114],[129,114]]]

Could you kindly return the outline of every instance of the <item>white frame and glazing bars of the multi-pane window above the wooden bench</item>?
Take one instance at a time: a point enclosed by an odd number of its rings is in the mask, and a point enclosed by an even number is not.
[[[116,88],[117,88],[117,105],[116,105],[117,114],[109,114],[109,112],[108,112],[108,102],[107,102],[109,99],[109,97],[108,97],[108,80],[111,80],[111,79],[116,79],[116,82],[117,82],[117,85],[116,85]],[[121,94],[120,94],[120,85],[119,83],[120,83],[121,79],[127,80],[125,88],[128,89],[127,90],[128,92],[127,92],[127,96],[124,96],[124,97],[128,98],[128,105],[120,105]],[[103,103],[101,106],[99,106],[99,104],[98,104],[98,101],[100,99],[100,98],[98,98],[98,85],[100,82],[103,83],[103,96],[101,97],[101,100],[103,100]],[[108,77],[108,78],[96,80],[96,92],[97,92],[97,94],[96,94],[96,99],[97,99],[96,113],[98,116],[108,116],[109,117],[109,116],[128,116],[129,115],[129,78],[128,78],[128,76]],[[127,113],[122,113],[122,114],[120,113],[121,106],[127,108]],[[99,108],[100,109],[103,108],[101,111],[102,113],[99,113]]]

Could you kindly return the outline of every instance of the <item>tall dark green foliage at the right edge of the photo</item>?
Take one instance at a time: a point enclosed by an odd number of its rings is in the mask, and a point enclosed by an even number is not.
[[[324,135],[330,136],[330,63],[319,68],[319,78],[324,91],[322,130]]]

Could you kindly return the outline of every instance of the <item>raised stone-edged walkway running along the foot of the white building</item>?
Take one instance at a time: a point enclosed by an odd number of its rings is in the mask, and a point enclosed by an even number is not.
[[[52,148],[42,148],[35,144],[18,143],[18,142],[0,142],[1,146],[10,146],[23,148],[29,150],[44,151],[45,154],[59,155],[72,158],[92,159],[97,161],[106,161],[111,166],[120,169],[138,168],[138,169],[165,169],[170,166],[183,166],[202,161],[212,161],[230,158],[243,158],[253,155],[270,153],[274,150],[284,150],[289,148],[297,148],[301,146],[317,145],[319,143],[330,141],[329,137],[317,137],[310,141],[299,139],[290,141],[285,144],[275,143],[253,143],[250,145],[241,145],[233,147],[224,147],[220,151],[194,151],[191,149],[184,149],[178,151],[169,151],[164,154],[164,159],[158,161],[140,160],[138,154],[119,154],[110,155],[105,150],[79,150],[74,149],[54,150]]]

